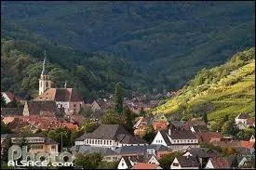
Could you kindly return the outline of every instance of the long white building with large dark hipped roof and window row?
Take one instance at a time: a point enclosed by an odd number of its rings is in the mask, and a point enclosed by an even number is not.
[[[107,147],[115,150],[122,146],[148,145],[148,143],[139,137],[130,135],[120,124],[101,124],[92,133],[76,138],[75,145]]]

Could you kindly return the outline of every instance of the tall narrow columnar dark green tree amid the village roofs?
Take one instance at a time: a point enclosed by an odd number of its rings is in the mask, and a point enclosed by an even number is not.
[[[117,113],[123,112],[123,87],[121,83],[115,84],[115,111]]]

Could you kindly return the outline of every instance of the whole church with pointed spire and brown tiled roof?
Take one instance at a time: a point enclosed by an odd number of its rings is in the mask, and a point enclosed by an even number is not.
[[[74,88],[67,88],[66,83],[64,88],[52,88],[47,69],[46,69],[46,54],[43,63],[43,70],[39,79],[39,96],[36,100],[54,101],[58,108],[64,108],[66,114],[79,112],[83,107],[84,101],[78,91]]]

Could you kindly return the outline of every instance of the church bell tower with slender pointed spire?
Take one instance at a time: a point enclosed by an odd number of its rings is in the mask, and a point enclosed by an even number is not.
[[[47,59],[47,54],[45,50],[45,59],[43,63],[43,70],[41,72],[41,76],[39,79],[39,95],[44,93],[48,88],[51,88],[51,81],[49,80],[49,75],[46,70],[46,59]]]

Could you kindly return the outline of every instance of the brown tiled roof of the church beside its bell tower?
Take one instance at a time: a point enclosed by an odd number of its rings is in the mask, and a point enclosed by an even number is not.
[[[78,91],[74,88],[48,88],[36,99],[54,101],[83,101]]]

